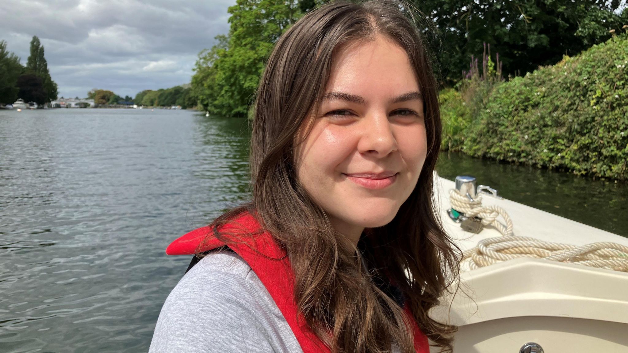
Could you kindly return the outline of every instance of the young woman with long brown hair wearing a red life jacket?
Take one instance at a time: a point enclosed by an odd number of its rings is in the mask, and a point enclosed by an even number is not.
[[[398,3],[333,2],[276,44],[257,91],[251,202],[177,239],[203,254],[150,352],[452,348],[428,310],[458,273],[433,212],[440,115]]]

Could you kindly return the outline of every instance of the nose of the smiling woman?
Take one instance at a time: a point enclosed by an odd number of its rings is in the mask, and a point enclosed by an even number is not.
[[[398,149],[386,112],[369,114],[360,123],[361,136],[357,146],[360,153],[385,157]]]

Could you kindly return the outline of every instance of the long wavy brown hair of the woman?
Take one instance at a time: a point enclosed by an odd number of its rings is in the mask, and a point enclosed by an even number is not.
[[[437,86],[408,9],[397,1],[335,1],[306,14],[279,38],[254,105],[252,200],[212,223],[219,231],[220,224],[241,212],[256,215],[286,250],[300,313],[333,352],[391,352],[392,347],[414,352],[403,310],[376,282],[394,283],[433,345],[452,350],[456,327],[428,316],[458,275],[458,250],[434,214],[432,173],[441,140]],[[356,251],[300,184],[295,147],[325,93],[339,46],[377,35],[408,54],[423,94],[428,153],[396,217],[365,229]],[[230,240],[220,232],[215,236]]]

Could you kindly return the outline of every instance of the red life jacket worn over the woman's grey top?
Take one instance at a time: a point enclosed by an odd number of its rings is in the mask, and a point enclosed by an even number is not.
[[[232,223],[220,228],[220,231],[237,231],[244,227],[244,231],[255,233],[260,225],[251,214],[245,213],[236,217]],[[285,251],[281,249],[268,232],[262,232],[253,237],[252,241],[239,244],[225,244],[212,234],[210,227],[198,228],[173,241],[166,249],[168,255],[189,255],[203,253],[217,247],[229,246],[236,254],[246,261],[253,272],[262,281],[268,293],[273,297],[277,307],[286,318],[296,340],[301,345],[303,353],[330,352],[329,347],[315,335],[298,312],[294,298],[294,273]],[[417,353],[429,353],[430,347],[427,337],[416,325],[408,308],[406,314],[410,318],[414,329],[414,349]]]

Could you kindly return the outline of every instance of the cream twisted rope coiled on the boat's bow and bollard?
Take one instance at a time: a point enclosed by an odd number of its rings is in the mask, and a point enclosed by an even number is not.
[[[465,217],[481,217],[483,225],[492,225],[503,235],[482,239],[476,247],[462,254],[461,262],[468,260],[471,269],[509,259],[538,258],[628,272],[628,246],[615,242],[592,242],[574,246],[515,236],[512,220],[506,210],[499,206],[482,206],[481,195],[469,200],[458,190],[451,190],[450,202],[452,209],[463,212]],[[506,225],[497,220],[500,215]]]

